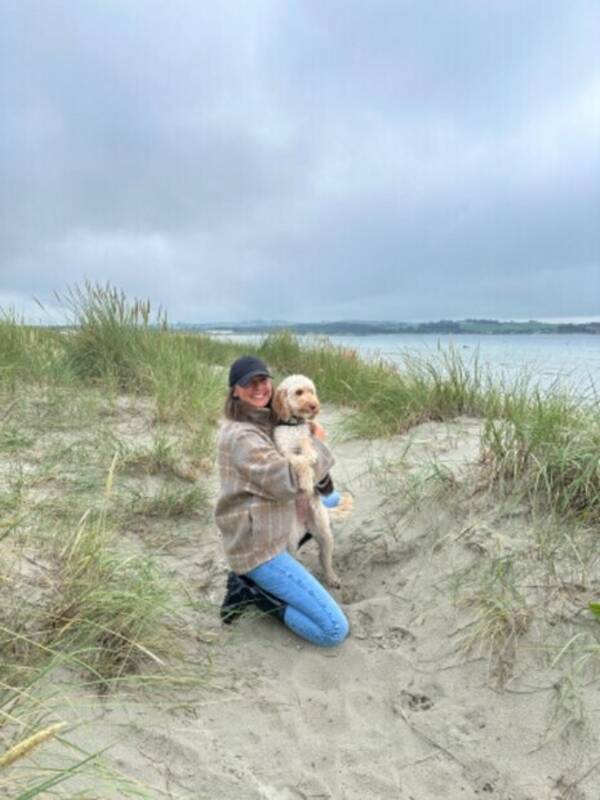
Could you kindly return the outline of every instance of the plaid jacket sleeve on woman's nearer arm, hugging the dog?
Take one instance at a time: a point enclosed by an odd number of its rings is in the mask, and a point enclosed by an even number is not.
[[[289,500],[298,493],[296,477],[285,456],[258,431],[245,431],[232,442],[231,461],[246,491],[266,500]]]

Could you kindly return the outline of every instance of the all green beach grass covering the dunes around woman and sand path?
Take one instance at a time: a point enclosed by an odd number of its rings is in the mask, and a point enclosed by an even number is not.
[[[2,710],[14,723],[6,709],[25,707],[33,676],[41,685],[57,664],[103,692],[152,678],[193,682],[181,672],[181,653],[190,636],[185,606],[195,608],[197,598],[163,572],[157,552],[164,541],[185,541],[189,531],[178,526],[209,511],[227,368],[247,352],[276,379],[309,375],[324,402],[347,409],[348,436],[481,421],[478,496],[495,506],[523,500],[547,520],[534,526],[521,562],[496,553],[471,565],[460,598],[473,614],[465,647],[487,653],[500,684],[532,619],[559,614],[564,587],[584,587],[587,609],[600,519],[600,416],[592,403],[542,393],[525,375],[498,385],[477,355],[465,360],[454,349],[401,364],[364,361],[326,339],[305,346],[285,331],[254,346],[173,331],[162,311],[153,315],[147,302],[111,286],[85,284],[64,301],[70,325],[62,329],[31,327],[14,314],[0,319],[0,731]],[[416,508],[462,497],[440,464],[418,477],[404,470],[401,480],[400,472],[385,471],[391,509],[407,498]],[[160,535],[138,535],[140,520]],[[532,596],[523,569],[538,574],[540,564],[545,588]],[[600,664],[594,627],[586,623],[571,642],[574,635],[552,644],[573,680]],[[2,743],[55,721],[16,724]]]

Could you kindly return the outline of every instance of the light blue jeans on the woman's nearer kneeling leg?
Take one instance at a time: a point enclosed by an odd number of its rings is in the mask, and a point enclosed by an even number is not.
[[[348,620],[318,580],[287,551],[246,573],[261,589],[286,604],[285,625],[321,647],[339,644],[348,635]]]

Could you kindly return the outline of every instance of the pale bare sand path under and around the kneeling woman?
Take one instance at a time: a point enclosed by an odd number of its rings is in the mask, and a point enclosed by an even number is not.
[[[597,684],[578,689],[585,718],[558,724],[565,677],[535,622],[500,653],[467,646],[474,612],[461,600],[477,586],[464,570],[518,547],[530,524],[526,509],[485,494],[463,502],[477,487],[479,423],[367,442],[342,440],[338,410],[321,419],[336,486],[354,497],[335,526],[349,638],[319,649],[252,614],[221,627],[227,568],[209,520],[168,565],[213,604],[190,658],[211,641],[214,688],[156,706],[89,697],[94,723],[71,740],[109,747],[109,762],[156,797],[597,800]],[[434,473],[444,479],[423,482]],[[314,544],[301,559],[320,575]]]

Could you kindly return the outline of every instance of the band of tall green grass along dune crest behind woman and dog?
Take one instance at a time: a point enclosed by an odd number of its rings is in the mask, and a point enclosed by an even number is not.
[[[145,453],[127,453],[126,444],[117,443],[123,450],[119,468],[137,460],[150,472],[164,468],[194,479],[210,470],[226,368],[233,358],[253,351],[276,377],[310,375],[325,402],[349,409],[351,436],[390,436],[422,422],[465,415],[484,419],[482,452],[491,482],[527,493],[559,514],[591,522],[600,514],[600,416],[594,405],[558,390],[542,393],[526,375],[510,386],[499,385],[481,368],[477,354],[465,360],[450,348],[427,358],[407,355],[401,364],[367,362],[327,339],[304,346],[285,331],[249,347],[173,332],[164,312],[153,315],[147,301],[130,302],[109,285],[86,283],[70,290],[64,301],[72,324],[62,332],[25,326],[14,315],[0,322],[4,452],[31,444],[44,418],[52,418],[54,430],[81,418],[83,408],[74,414],[72,406],[74,387],[83,384],[115,405],[124,395],[147,398],[158,426],[178,425],[183,432],[175,448],[160,428]],[[19,382],[33,381],[43,387],[44,398],[16,397]],[[30,413],[27,424],[18,426],[15,405],[22,402],[29,403]],[[89,409],[90,418],[96,411]],[[75,457],[73,446],[67,446]],[[16,502],[17,483],[3,493],[5,506]]]

